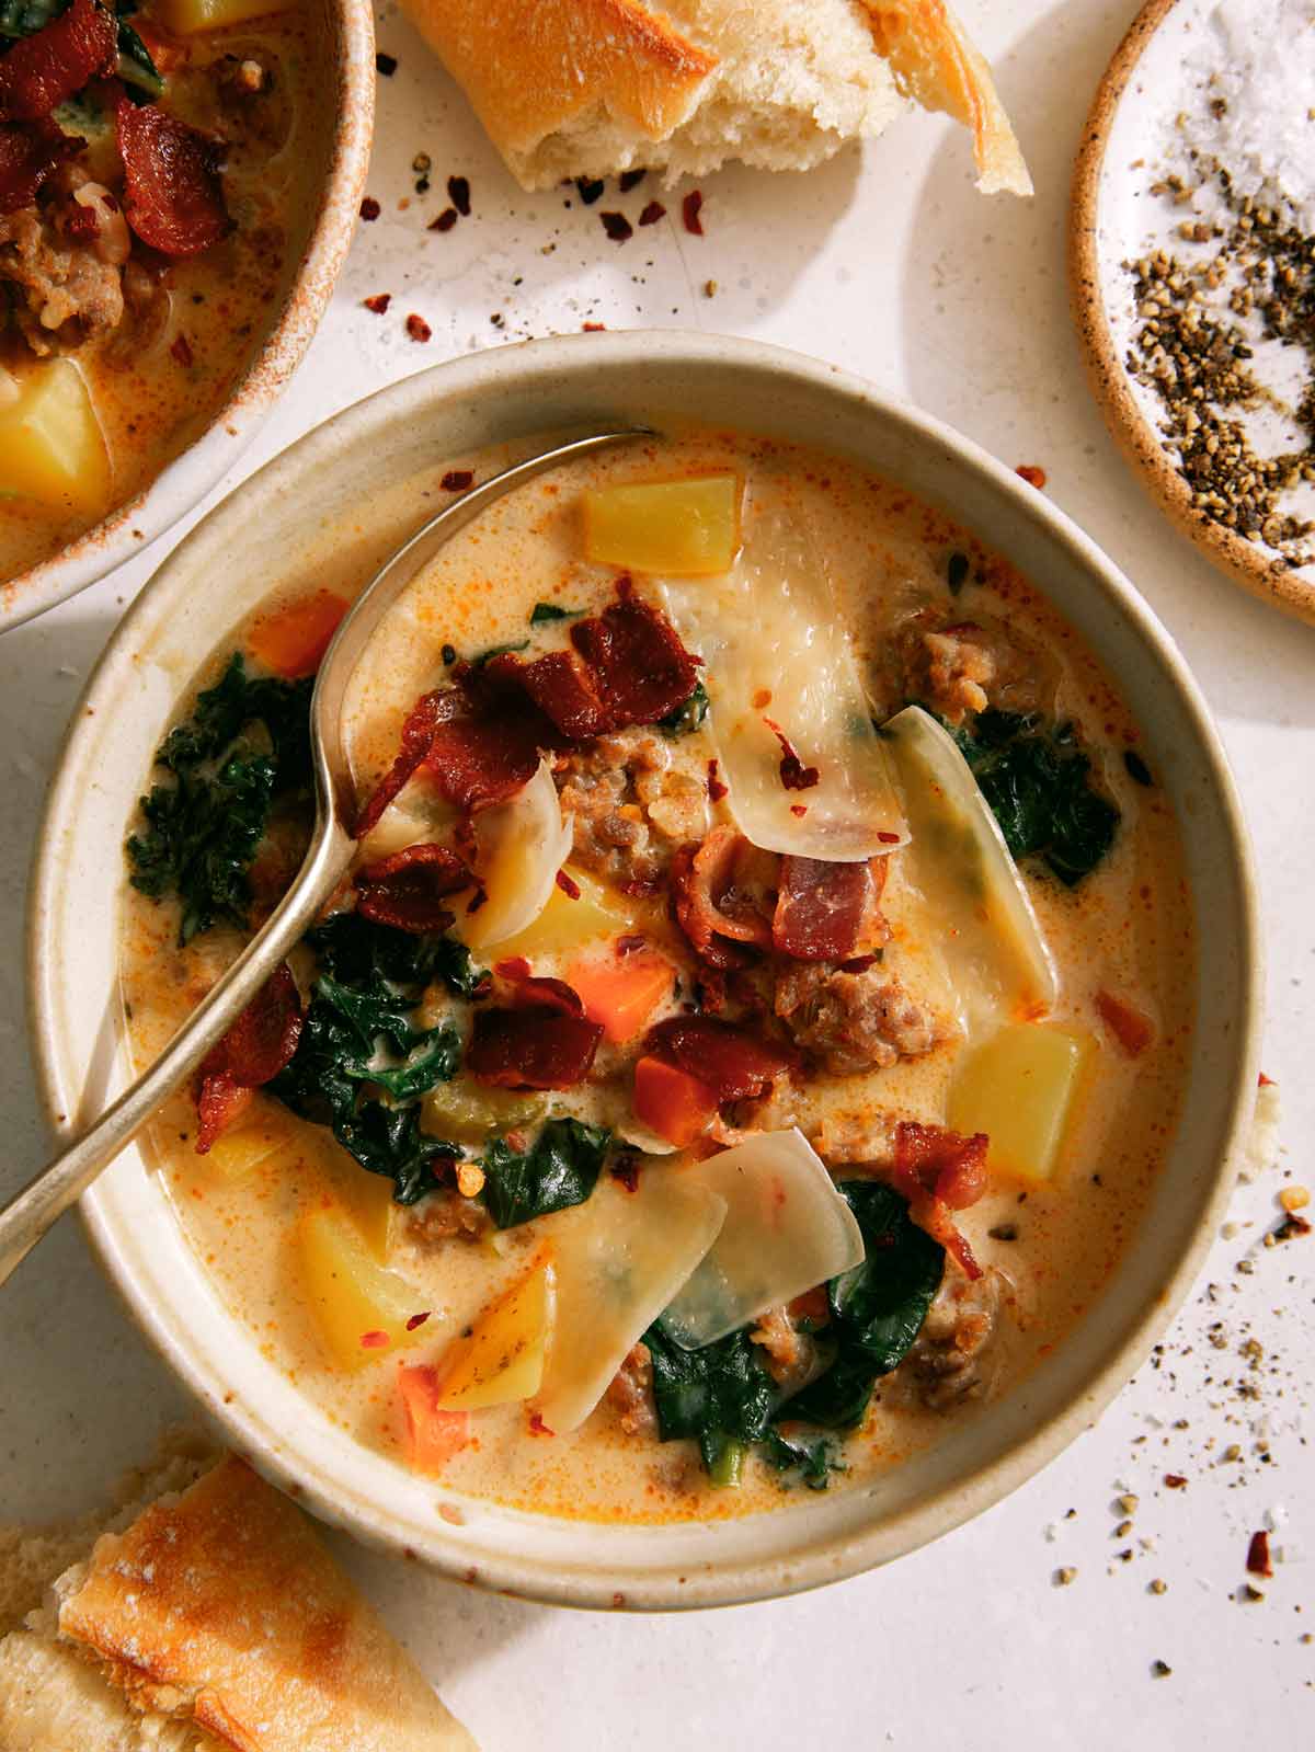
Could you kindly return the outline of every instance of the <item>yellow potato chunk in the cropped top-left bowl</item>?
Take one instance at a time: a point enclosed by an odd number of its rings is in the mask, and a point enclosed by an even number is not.
[[[46,359],[11,378],[0,405],[0,492],[65,512],[109,508],[110,468],[91,394],[72,359]]]

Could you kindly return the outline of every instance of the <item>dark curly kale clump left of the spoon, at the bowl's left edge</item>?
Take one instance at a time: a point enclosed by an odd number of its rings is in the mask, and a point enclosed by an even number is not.
[[[172,781],[142,797],[147,832],[132,834],[126,851],[135,888],[181,899],[181,943],[219,920],[247,925],[270,811],[310,785],[310,685],[251,680],[235,652],[161,743],[156,764]]]

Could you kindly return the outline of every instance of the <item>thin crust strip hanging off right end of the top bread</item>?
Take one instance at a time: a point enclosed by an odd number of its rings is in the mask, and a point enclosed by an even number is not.
[[[861,5],[877,53],[891,63],[905,96],[971,130],[978,189],[1031,194],[1033,179],[991,68],[945,0],[861,0]]]

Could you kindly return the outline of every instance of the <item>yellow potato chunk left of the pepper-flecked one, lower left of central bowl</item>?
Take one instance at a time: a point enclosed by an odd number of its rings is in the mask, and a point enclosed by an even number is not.
[[[419,1289],[372,1258],[340,1207],[307,1211],[293,1246],[316,1328],[340,1368],[363,1368],[426,1337],[423,1326],[407,1330],[407,1321],[424,1312]]]

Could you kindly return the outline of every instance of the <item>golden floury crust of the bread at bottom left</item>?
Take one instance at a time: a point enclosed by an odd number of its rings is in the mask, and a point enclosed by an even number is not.
[[[98,1540],[60,1635],[135,1708],[235,1752],[473,1747],[310,1522],[231,1456]]]

